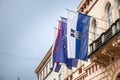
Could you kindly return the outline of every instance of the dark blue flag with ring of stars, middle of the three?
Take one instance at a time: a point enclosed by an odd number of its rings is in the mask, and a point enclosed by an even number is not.
[[[59,35],[59,42],[58,47],[56,49],[56,62],[65,64],[68,69],[72,69],[72,67],[77,66],[77,60],[68,59],[67,53],[67,18],[61,17],[60,25],[60,35]],[[76,63],[76,65],[72,65],[72,63]],[[75,62],[76,61],[76,62]]]

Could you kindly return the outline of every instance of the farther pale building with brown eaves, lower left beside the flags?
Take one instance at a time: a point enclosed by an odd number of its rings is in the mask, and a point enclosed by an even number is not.
[[[35,70],[38,80],[63,80],[60,73],[50,70],[52,47]],[[62,79],[61,79],[62,78]]]

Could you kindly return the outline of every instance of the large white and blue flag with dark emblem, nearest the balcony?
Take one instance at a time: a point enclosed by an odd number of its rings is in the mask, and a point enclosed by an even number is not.
[[[88,31],[90,16],[68,10],[68,58],[88,60]]]

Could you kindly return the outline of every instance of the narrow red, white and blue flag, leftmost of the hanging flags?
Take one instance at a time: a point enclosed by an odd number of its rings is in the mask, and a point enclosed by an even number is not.
[[[61,69],[61,65],[59,64],[59,62],[56,62],[56,49],[58,47],[59,36],[60,36],[60,22],[58,23],[58,30],[55,29],[54,41],[53,41],[53,46],[52,46],[52,54],[51,54],[50,69],[55,72],[59,72]]]

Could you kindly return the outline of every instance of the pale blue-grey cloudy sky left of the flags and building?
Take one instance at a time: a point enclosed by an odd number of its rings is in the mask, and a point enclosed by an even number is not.
[[[0,0],[0,80],[37,80],[54,27],[81,0]]]

